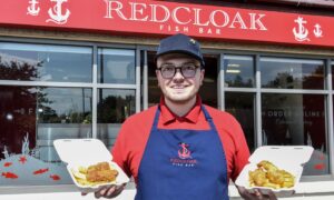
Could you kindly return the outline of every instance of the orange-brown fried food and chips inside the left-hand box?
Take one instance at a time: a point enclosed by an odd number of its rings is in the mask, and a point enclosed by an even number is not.
[[[118,176],[117,170],[108,162],[99,162],[89,167],[78,167],[78,169],[71,169],[77,182],[81,186],[95,187],[104,183],[112,183]]]

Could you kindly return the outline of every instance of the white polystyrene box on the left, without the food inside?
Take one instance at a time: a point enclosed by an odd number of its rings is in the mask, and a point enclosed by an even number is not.
[[[129,181],[129,178],[121,168],[116,162],[112,162],[112,156],[109,150],[98,139],[58,139],[53,141],[53,146],[59,158],[63,162],[68,163],[67,170],[81,192],[94,192],[102,186],[119,186]],[[114,182],[97,184],[94,187],[78,183],[77,179],[72,174],[72,170],[77,170],[79,167],[97,164],[98,162],[108,162],[114,169],[116,169],[118,171],[116,180]]]

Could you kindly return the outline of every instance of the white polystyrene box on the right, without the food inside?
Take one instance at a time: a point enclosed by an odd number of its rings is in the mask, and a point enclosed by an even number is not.
[[[295,192],[299,183],[303,166],[306,163],[313,152],[313,148],[308,146],[263,146],[255,150],[249,157],[249,163],[245,166],[240,174],[235,181],[236,186],[245,187],[248,191],[254,192],[261,189],[262,193],[274,191],[277,197],[288,197]],[[249,171],[257,169],[257,163],[267,160],[275,164],[278,169],[285,170],[295,177],[295,184],[292,188],[273,189],[267,187],[250,187]]]

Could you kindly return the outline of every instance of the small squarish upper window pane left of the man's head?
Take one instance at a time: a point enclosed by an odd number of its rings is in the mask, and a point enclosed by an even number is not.
[[[98,82],[136,83],[135,50],[98,49]]]

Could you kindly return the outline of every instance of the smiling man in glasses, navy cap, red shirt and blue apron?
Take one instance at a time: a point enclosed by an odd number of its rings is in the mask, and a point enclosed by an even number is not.
[[[134,177],[136,200],[228,199],[228,181],[248,162],[249,150],[234,117],[202,103],[205,63],[198,42],[185,34],[161,40],[156,64],[160,103],[125,121],[114,161]],[[122,189],[95,194],[112,198]],[[238,191],[245,199],[265,198]]]

